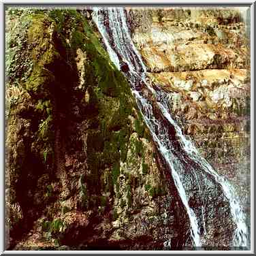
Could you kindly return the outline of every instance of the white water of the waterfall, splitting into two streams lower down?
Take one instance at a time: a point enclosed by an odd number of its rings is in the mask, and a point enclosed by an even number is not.
[[[150,99],[140,91],[137,86],[142,83],[146,86],[146,89],[153,94],[157,106],[161,111],[161,114],[166,120],[174,127],[176,131],[176,137],[178,138],[179,144],[184,152],[193,159],[197,165],[200,166],[201,170],[204,170],[221,186],[225,197],[229,201],[231,215],[236,224],[236,230],[234,232],[233,244],[231,246],[248,246],[247,244],[247,227],[245,223],[245,214],[240,207],[238,199],[234,193],[234,189],[229,185],[229,182],[222,176],[219,176],[217,172],[213,170],[210,164],[199,155],[197,149],[193,144],[185,138],[182,134],[180,127],[174,121],[170,113],[168,112],[168,96],[164,91],[155,91],[152,86],[146,80],[146,66],[144,65],[142,58],[138,50],[133,45],[131,36],[129,34],[129,28],[127,27],[127,18],[125,10],[122,7],[109,7],[109,8],[93,8],[93,20],[96,23],[99,32],[103,37],[103,42],[108,50],[110,59],[120,70],[121,63],[125,62],[129,66],[127,72],[127,78],[131,84],[131,90],[135,99],[138,103],[138,107],[142,112],[144,121],[150,129],[153,135],[153,140],[158,145],[159,152],[165,159],[167,165],[170,167],[172,178],[178,190],[182,204],[184,204],[189,221],[191,224],[191,237],[196,247],[202,246],[199,231],[199,219],[195,214],[195,211],[189,206],[188,193],[186,191],[186,185],[184,182],[184,174],[186,173],[184,165],[180,163],[177,155],[174,153],[174,145],[170,140],[167,128],[161,119],[159,120],[154,116],[153,105]],[[195,170],[193,171],[195,172]],[[196,174],[195,174],[196,176]],[[197,185],[199,181],[197,180]],[[202,224],[204,228],[204,234],[206,234],[206,225],[204,216],[204,207],[202,206]],[[203,234],[203,235],[204,235]]]

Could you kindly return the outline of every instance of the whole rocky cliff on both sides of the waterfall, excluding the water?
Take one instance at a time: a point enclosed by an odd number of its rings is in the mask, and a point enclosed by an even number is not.
[[[246,202],[250,74],[240,12],[127,15],[148,80],[170,95],[183,133]],[[174,180],[91,10],[10,8],[6,36],[7,248],[191,246]]]

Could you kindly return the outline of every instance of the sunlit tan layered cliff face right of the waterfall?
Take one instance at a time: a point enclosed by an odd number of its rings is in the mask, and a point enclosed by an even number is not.
[[[128,9],[148,78],[202,155],[249,212],[250,55],[244,16],[219,8]],[[143,21],[142,21],[143,20]]]

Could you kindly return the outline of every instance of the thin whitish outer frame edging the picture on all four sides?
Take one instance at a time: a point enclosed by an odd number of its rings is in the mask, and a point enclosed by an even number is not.
[[[4,133],[5,133],[5,106],[4,106],[4,100],[3,100],[3,111],[1,111],[1,121],[3,121],[3,131],[1,132],[1,143],[2,143],[2,154],[1,154],[1,163],[2,164],[2,176],[1,176],[1,185],[3,185],[3,190],[1,191],[1,195],[0,195],[0,202],[1,202],[1,206],[3,206],[3,211],[1,211],[1,224],[0,224],[0,230],[1,231],[1,243],[0,243],[0,252],[1,254],[110,254],[110,255],[116,255],[116,254],[249,254],[249,255],[254,255],[255,254],[255,198],[254,198],[254,193],[255,193],[255,188],[254,188],[254,182],[255,182],[255,174],[254,174],[254,158],[253,158],[253,153],[254,153],[254,128],[255,128],[255,119],[254,119],[254,114],[255,114],[255,103],[254,103],[254,99],[255,99],[255,89],[254,89],[254,78],[255,78],[255,74],[254,74],[254,57],[255,57],[255,52],[254,52],[254,45],[255,45],[255,1],[252,0],[225,0],[225,1],[221,1],[221,0],[215,0],[215,1],[207,1],[207,0],[197,0],[197,1],[185,1],[185,0],[161,0],[161,1],[156,1],[156,0],[129,0],[129,1],[121,1],[121,0],[112,0],[112,1],[107,1],[107,0],[99,0],[99,1],[93,1],[93,0],[87,0],[87,1],[82,1],[82,0],[76,0],[74,2],[70,2],[67,0],[45,0],[45,1],[33,1],[33,0],[27,0],[27,1],[22,1],[22,0],[0,0],[0,16],[4,17],[4,4],[17,4],[17,5],[22,5],[22,4],[27,4],[27,5],[46,5],[46,4],[50,4],[50,5],[76,5],[76,3],[79,4],[84,4],[84,5],[89,5],[89,4],[93,4],[93,5],[97,5],[97,4],[101,4],[101,5],[108,5],[108,4],[116,4],[118,5],[118,3],[121,5],[161,5],[161,4],[165,4],[165,5],[182,5],[182,4],[186,4],[187,6],[193,6],[193,5],[213,5],[216,6],[217,4],[221,5],[221,6],[225,6],[225,5],[241,5],[241,6],[249,6],[251,8],[251,250],[250,251],[4,251],[4,246],[5,246],[5,241],[4,241],[4,210],[5,210],[5,206],[4,206],[4,202],[5,200],[3,199],[5,197],[5,191],[4,191],[4,186],[5,186],[5,180],[4,180],[4,167],[5,167],[5,141],[4,141]],[[5,76],[4,76],[4,72],[3,72],[3,68],[5,66],[4,63],[4,54],[5,54],[5,50],[3,49],[4,47],[4,41],[5,40],[5,31],[4,31],[4,27],[5,27],[5,20],[3,20],[3,18],[1,18],[2,22],[1,22],[1,42],[0,42],[0,46],[1,46],[1,71],[0,71],[0,77],[2,78],[2,88],[1,88],[1,99],[4,99],[5,95]],[[2,194],[3,193],[3,194]]]

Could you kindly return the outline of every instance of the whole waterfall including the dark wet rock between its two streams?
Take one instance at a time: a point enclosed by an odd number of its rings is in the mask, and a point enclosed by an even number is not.
[[[103,37],[110,59],[118,69],[123,62],[129,66],[126,76],[131,90],[153,140],[171,171],[189,216],[195,246],[202,246],[202,239],[208,231],[206,229],[214,228],[221,214],[231,215],[236,224],[234,241],[230,245],[248,246],[244,213],[233,189],[182,135],[180,127],[168,112],[167,93],[157,87],[153,88],[147,82],[146,66],[131,40],[125,10],[121,7],[94,7],[93,11],[93,20]],[[223,206],[221,209],[227,209],[228,205],[230,212],[221,212],[220,205]]]

